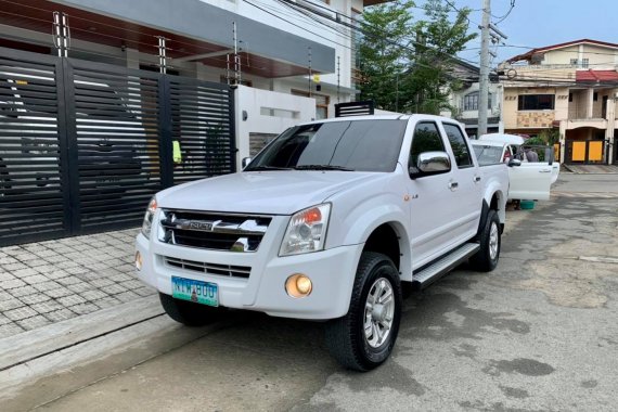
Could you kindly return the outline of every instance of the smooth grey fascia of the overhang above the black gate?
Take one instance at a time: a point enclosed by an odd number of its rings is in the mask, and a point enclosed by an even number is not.
[[[311,47],[311,66],[319,72],[335,72],[335,49],[294,36],[204,3],[199,0],[52,0],[55,3],[88,10],[144,26],[232,47],[232,22],[239,39],[249,41],[249,52],[298,66],[307,66]]]

